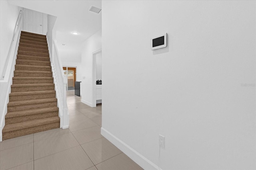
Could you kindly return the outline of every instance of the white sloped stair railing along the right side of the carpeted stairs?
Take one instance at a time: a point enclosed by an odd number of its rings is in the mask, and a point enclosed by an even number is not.
[[[46,34],[47,37],[47,34]],[[47,41],[48,37],[47,37]],[[50,40],[51,41],[51,40]],[[69,127],[69,114],[66,101],[66,87],[68,78],[64,75],[62,63],[60,60],[60,55],[56,46],[56,40],[52,40],[52,51],[50,51],[50,61],[52,66],[52,75],[54,78],[55,91],[57,97],[57,103],[59,107],[59,117],[60,117],[60,127],[62,129],[67,129]],[[48,43],[49,44],[49,43]]]

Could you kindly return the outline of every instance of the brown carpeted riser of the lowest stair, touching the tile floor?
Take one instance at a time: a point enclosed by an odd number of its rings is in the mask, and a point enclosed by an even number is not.
[[[60,122],[3,133],[3,140],[20,137],[24,135],[30,135],[30,134],[38,133],[42,131],[48,131],[50,129],[56,129],[56,128],[60,128]]]

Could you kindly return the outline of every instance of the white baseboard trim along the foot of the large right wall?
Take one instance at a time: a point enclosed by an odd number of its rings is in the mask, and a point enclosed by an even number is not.
[[[162,170],[156,164],[145,158],[142,154],[132,149],[126,143],[118,139],[112,133],[101,128],[101,135],[104,136],[108,141],[113,143],[118,149],[124,152],[129,158],[131,158],[134,162],[140,165],[144,170]]]

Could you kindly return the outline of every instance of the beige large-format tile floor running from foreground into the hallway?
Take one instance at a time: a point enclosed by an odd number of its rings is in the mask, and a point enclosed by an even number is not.
[[[100,135],[101,106],[67,92],[69,129],[52,129],[0,143],[0,170],[142,170]]]

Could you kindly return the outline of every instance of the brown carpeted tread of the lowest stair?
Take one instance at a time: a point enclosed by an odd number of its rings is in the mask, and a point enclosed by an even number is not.
[[[38,119],[38,120],[32,120],[32,121],[24,121],[20,123],[14,123],[5,125],[2,133],[7,133],[11,131],[17,131],[21,129],[27,129],[31,127],[41,126],[41,125],[47,125],[52,123],[60,122],[60,117],[48,117],[45,119]]]

